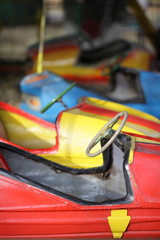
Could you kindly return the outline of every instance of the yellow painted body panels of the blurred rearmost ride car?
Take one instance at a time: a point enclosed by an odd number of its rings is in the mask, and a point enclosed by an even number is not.
[[[79,51],[80,49],[75,46],[45,52],[43,54],[43,70],[53,71],[62,76],[102,76],[102,69],[100,66],[105,66],[109,64],[110,61],[106,59],[98,64],[94,64],[94,66],[77,64]],[[122,61],[121,66],[139,70],[149,70],[150,53],[143,49],[135,51]],[[36,67],[37,59],[32,69],[33,72],[36,71]],[[105,69],[105,71],[107,72],[107,69]]]

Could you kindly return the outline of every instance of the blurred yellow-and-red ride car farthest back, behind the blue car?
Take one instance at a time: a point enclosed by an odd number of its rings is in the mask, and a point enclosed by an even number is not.
[[[100,41],[99,41],[100,42]],[[37,70],[38,48],[31,46],[28,58],[33,65],[27,73]],[[52,71],[68,80],[85,86],[109,84],[110,66],[119,63],[122,67],[150,70],[155,58],[148,49],[124,39],[107,43],[93,40],[79,41],[77,35],[64,36],[44,43],[43,70]]]

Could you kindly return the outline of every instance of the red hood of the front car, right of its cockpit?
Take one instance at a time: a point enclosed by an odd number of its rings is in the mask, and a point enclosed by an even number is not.
[[[157,191],[160,169],[160,144],[145,143],[139,139],[135,145],[134,164],[131,164],[135,185],[138,186],[140,202],[160,204]],[[156,206],[155,206],[156,207]]]

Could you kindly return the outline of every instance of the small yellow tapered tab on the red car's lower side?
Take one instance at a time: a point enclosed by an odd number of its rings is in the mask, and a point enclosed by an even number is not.
[[[121,238],[126,231],[130,216],[127,216],[127,209],[111,210],[111,216],[108,217],[108,223],[114,238]]]

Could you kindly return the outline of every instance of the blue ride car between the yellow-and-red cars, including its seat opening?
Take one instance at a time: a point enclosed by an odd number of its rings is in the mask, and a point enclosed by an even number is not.
[[[160,118],[159,73],[118,68],[112,72],[110,87],[70,86],[70,82],[48,71],[27,75],[20,82],[23,94],[20,107],[40,118],[55,122],[62,110],[74,107],[81,97],[87,96],[118,102]],[[57,101],[57,96],[67,88],[70,88],[70,91],[63,96],[63,101],[60,97]],[[56,99],[56,104],[45,113],[41,113],[41,109],[52,99]]]

